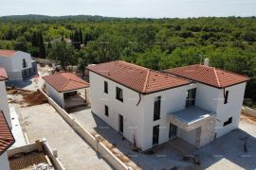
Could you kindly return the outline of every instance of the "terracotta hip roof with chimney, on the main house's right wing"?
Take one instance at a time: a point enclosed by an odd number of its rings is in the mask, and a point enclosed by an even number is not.
[[[217,88],[225,88],[249,80],[247,76],[241,76],[201,64],[169,69],[167,72],[175,76],[182,76]]]

